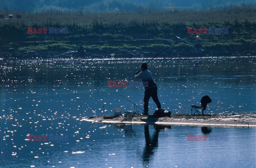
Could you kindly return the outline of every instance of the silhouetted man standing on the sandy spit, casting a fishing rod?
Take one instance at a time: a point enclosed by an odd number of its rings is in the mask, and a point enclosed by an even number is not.
[[[142,63],[141,69],[140,69],[141,72],[138,71],[138,73],[136,73],[134,76],[135,79],[141,79],[145,87],[143,115],[148,115],[148,101],[150,97],[152,97],[152,99],[156,103],[158,110],[161,109],[161,103],[159,102],[157,97],[157,85],[153,80],[152,74],[147,69],[148,69],[147,63]]]

